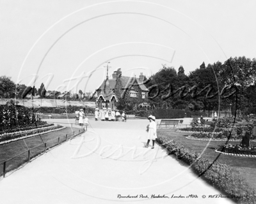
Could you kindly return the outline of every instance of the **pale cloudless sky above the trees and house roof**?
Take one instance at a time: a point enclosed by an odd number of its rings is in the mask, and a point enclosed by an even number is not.
[[[185,73],[256,54],[256,1],[0,0],[0,70],[17,84],[95,91],[113,71]],[[109,62],[109,63],[106,63]]]

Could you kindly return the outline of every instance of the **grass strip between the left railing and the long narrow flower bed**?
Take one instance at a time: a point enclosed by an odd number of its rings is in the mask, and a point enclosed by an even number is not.
[[[77,134],[79,129],[80,128],[72,128],[71,130],[70,128],[65,128],[61,129],[60,131],[54,131],[52,133],[33,136],[24,140],[18,140],[0,145],[0,176],[3,175],[3,164],[1,163],[4,161],[10,159],[10,161],[6,162],[6,171],[15,170],[20,165],[28,162],[28,149],[35,147],[35,149],[32,149],[30,152],[30,158],[33,158],[45,151],[44,143],[46,143],[47,150],[51,149],[52,147],[58,145],[58,142],[65,142],[66,135],[67,139],[69,139],[74,135],[73,131],[75,131],[75,134]],[[58,138],[60,138],[60,141]],[[36,147],[38,145],[40,146]],[[22,152],[24,153],[20,154]],[[12,157],[15,158],[11,159]]]

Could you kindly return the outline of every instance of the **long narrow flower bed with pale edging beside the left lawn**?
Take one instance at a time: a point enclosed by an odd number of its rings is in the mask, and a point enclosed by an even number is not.
[[[43,127],[43,128],[29,129],[26,131],[18,131],[18,132],[14,132],[14,133],[4,133],[4,134],[0,135],[0,144],[12,142],[15,140],[20,140],[23,138],[28,138],[28,137],[35,136],[35,135],[49,133],[51,131],[57,131],[57,130],[60,130],[63,128],[65,128],[65,127],[60,126],[60,125],[53,126],[51,124],[51,126]]]

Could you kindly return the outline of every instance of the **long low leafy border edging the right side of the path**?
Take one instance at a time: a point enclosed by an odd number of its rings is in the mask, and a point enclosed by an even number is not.
[[[255,203],[255,191],[242,179],[234,175],[232,169],[226,164],[212,163],[209,159],[196,154],[183,145],[170,140],[161,134],[157,135],[157,143],[161,144],[169,154],[175,154],[178,159],[191,165],[198,175],[204,177],[213,186],[225,192],[228,197],[237,203]]]

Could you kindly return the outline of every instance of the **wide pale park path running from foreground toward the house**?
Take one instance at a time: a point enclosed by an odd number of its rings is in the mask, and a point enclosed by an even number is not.
[[[232,203],[208,198],[221,193],[158,145],[143,148],[148,120],[89,122],[82,136],[1,180],[1,203]]]

